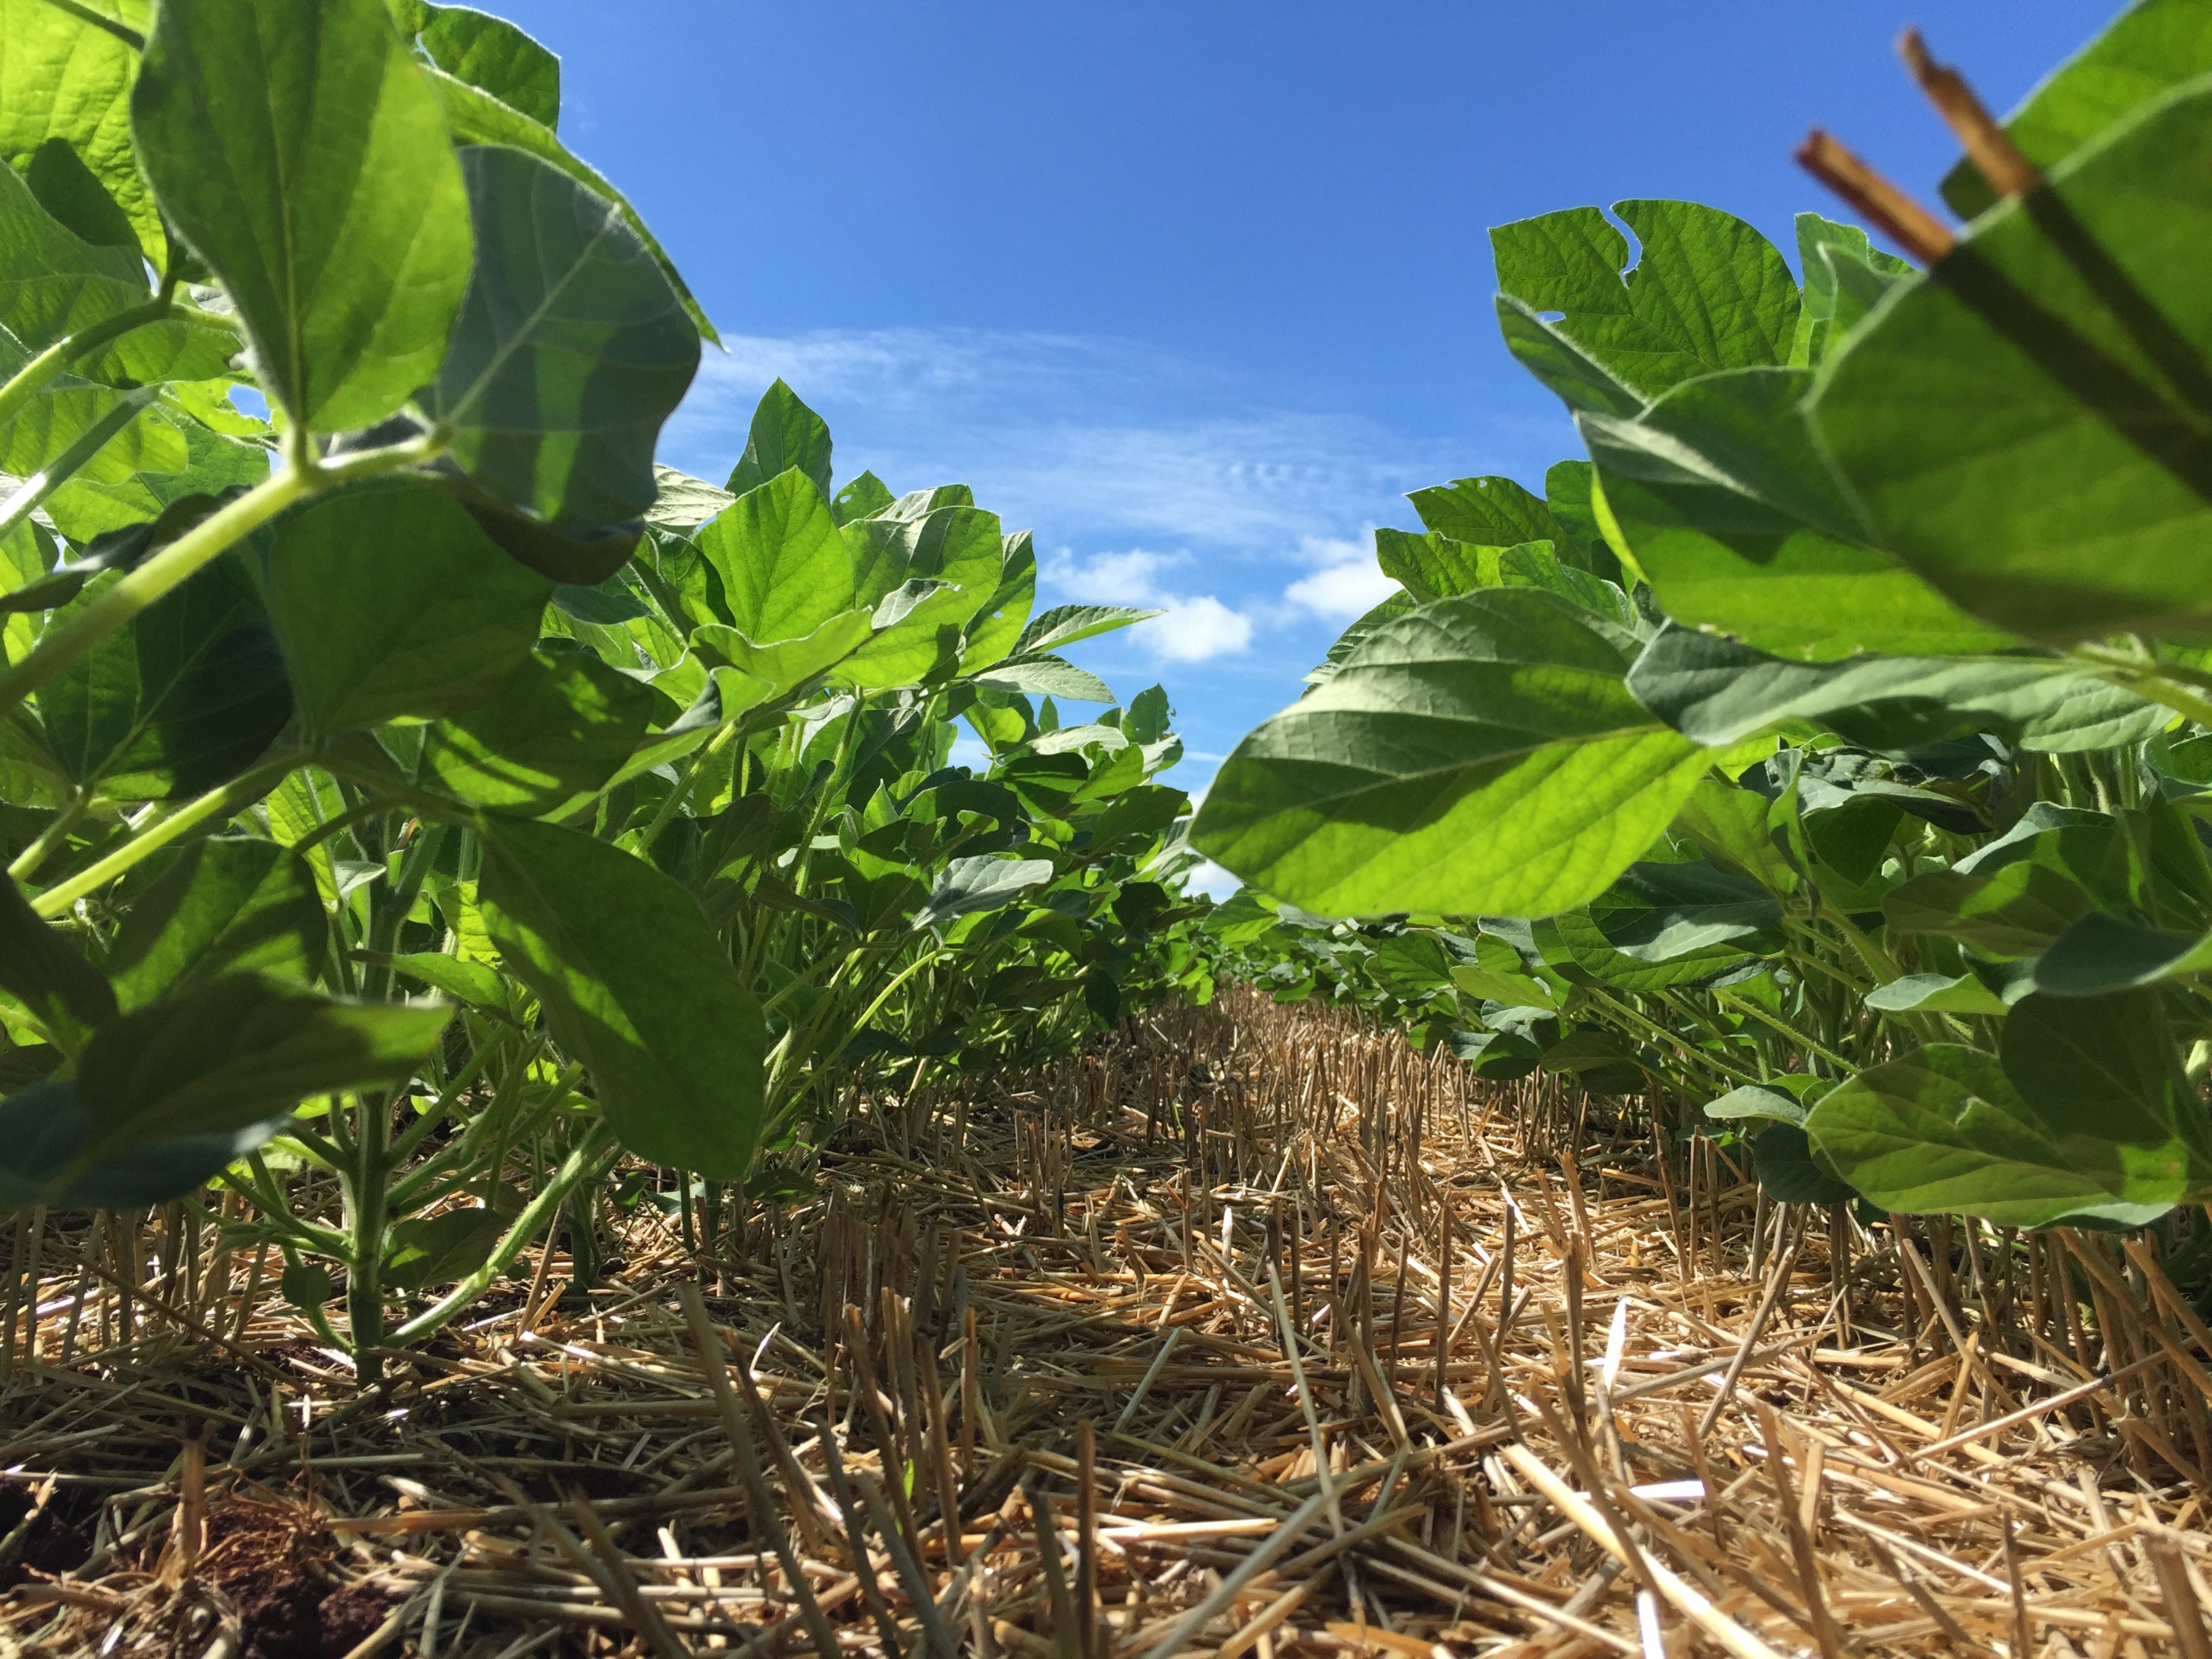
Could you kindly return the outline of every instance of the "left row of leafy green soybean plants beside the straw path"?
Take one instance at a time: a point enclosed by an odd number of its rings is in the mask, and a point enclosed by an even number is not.
[[[856,1086],[1210,991],[1166,697],[1057,655],[1144,613],[1033,615],[781,383],[657,467],[712,330],[529,35],[0,40],[0,1203],[226,1188],[372,1376],[624,1152],[692,1225]]]

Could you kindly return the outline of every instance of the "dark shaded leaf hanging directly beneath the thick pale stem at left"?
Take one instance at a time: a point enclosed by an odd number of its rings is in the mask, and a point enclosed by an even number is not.
[[[261,586],[312,737],[498,697],[553,593],[451,495],[392,487],[288,515]]]

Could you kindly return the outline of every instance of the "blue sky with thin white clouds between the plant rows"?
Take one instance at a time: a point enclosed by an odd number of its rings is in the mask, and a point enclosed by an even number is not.
[[[2110,7],[489,0],[562,53],[562,133],[728,345],[664,460],[721,480],[787,378],[838,478],[973,484],[1042,604],[1168,606],[1082,648],[1159,679],[1201,787],[1387,591],[1376,524],[1542,487],[1559,405],[1498,343],[1486,228],[1692,197],[1792,250],[1832,128],[1927,201],[1918,22],[2008,108]]]

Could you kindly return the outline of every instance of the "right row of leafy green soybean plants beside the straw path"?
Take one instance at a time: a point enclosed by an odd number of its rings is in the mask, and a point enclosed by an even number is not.
[[[1960,126],[1960,232],[1860,190],[1918,265],[1495,230],[1586,456],[1416,493],[1192,838],[1279,995],[1657,1091],[1783,1199],[2132,1228],[2212,1199],[2212,7]]]

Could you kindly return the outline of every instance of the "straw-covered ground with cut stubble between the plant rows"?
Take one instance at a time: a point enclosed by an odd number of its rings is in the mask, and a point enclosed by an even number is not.
[[[0,1657],[2205,1655],[2150,1248],[1900,1250],[1619,1106],[1239,991],[367,1394],[274,1256],[18,1217]]]

